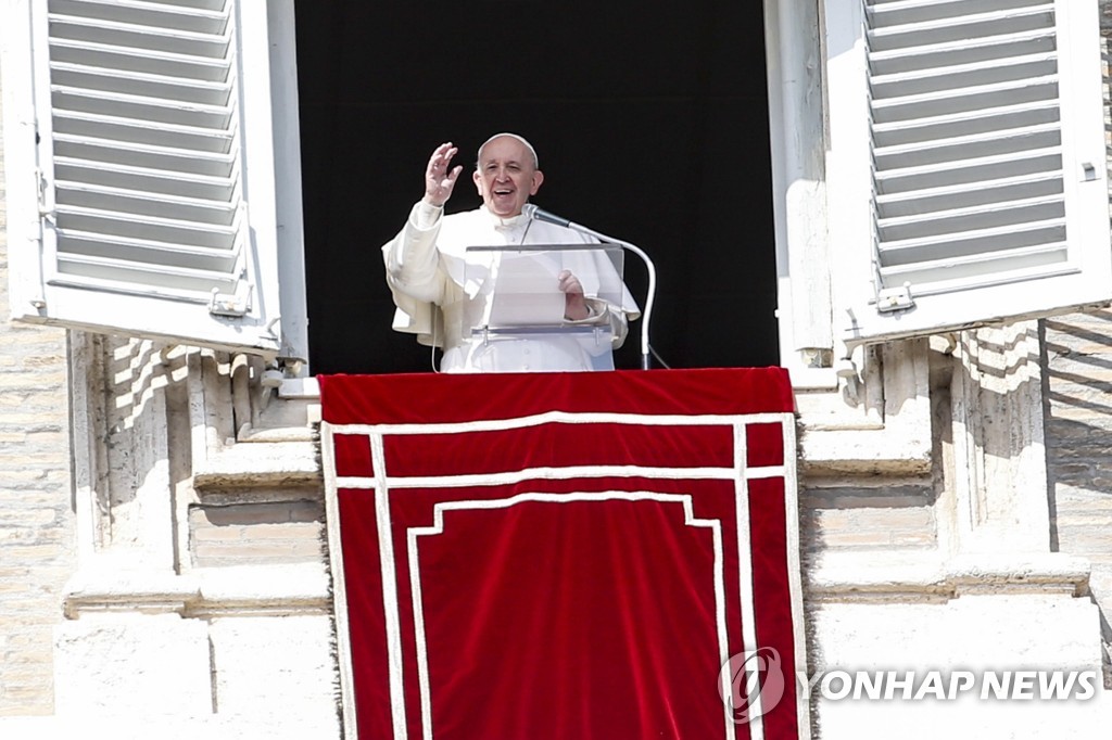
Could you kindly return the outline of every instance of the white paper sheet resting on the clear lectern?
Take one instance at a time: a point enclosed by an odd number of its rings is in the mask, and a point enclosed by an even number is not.
[[[489,326],[559,324],[566,310],[560,262],[537,253],[503,253],[495,272]]]

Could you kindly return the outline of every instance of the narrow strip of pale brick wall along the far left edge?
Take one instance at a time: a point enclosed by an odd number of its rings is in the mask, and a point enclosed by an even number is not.
[[[0,717],[53,711],[52,630],[75,563],[66,332],[9,318],[2,137]]]

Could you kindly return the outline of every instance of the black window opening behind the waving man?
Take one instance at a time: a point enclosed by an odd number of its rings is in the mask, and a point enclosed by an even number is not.
[[[380,246],[460,147],[537,148],[542,208],[631,241],[658,273],[653,346],[674,368],[778,362],[759,3],[335,0],[296,6],[312,370],[430,369],[390,329]],[[639,302],[645,273],[627,283]],[[616,357],[636,368],[641,324]]]

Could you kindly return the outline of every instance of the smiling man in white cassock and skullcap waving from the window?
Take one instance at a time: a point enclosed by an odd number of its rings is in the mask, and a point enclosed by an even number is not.
[[[522,208],[544,181],[536,151],[522,137],[499,133],[479,147],[474,173],[483,206],[444,214],[463,167],[451,167],[458,149],[437,147],[425,171],[425,197],[409,212],[405,227],[383,246],[386,280],[397,304],[394,328],[418,334],[418,341],[444,348],[445,372],[517,372],[593,370],[612,367],[610,351],[622,344],[627,323],[639,316],[613,262],[602,249],[579,249],[537,256],[538,300],[545,290],[563,298],[549,333],[483,331],[505,320],[496,316],[499,272],[510,272],[510,254],[468,251],[474,247],[513,244],[588,244],[593,237],[530,219]],[[548,261],[550,276],[544,273]],[[520,268],[518,268],[518,271]],[[545,281],[550,280],[550,288]],[[504,280],[505,283],[505,280]],[[559,293],[556,293],[559,291]],[[526,321],[523,321],[525,323]],[[513,321],[510,321],[513,323]],[[560,331],[563,326],[568,331]],[[608,329],[605,332],[585,328]],[[602,342],[598,337],[605,337]]]

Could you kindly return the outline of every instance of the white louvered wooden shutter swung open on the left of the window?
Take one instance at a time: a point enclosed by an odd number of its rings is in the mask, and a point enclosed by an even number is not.
[[[41,241],[10,249],[40,250],[39,288],[12,314],[279,353],[266,6],[32,0],[29,17]]]

